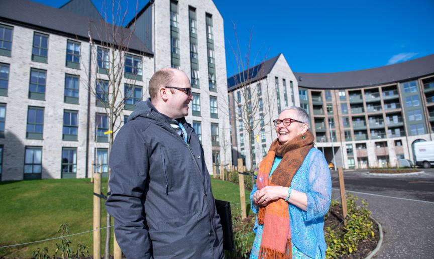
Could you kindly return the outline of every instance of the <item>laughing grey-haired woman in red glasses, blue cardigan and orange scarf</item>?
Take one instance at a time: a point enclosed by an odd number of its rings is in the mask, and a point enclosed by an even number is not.
[[[296,106],[274,120],[277,140],[260,163],[250,194],[258,214],[250,258],[326,258],[323,216],[332,181],[326,159],[313,148],[308,121]]]

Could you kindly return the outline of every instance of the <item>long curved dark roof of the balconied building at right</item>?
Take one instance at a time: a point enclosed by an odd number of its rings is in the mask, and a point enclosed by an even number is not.
[[[393,65],[336,73],[294,72],[299,87],[340,89],[376,86],[434,74],[434,54]]]

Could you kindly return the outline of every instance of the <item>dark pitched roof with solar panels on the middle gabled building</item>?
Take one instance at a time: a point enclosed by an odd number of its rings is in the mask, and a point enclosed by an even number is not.
[[[259,81],[261,79],[264,79],[267,77],[267,75],[271,72],[271,70],[274,67],[274,64],[276,64],[276,61],[279,59],[279,55],[270,58],[268,60],[265,60],[264,62],[251,67],[249,69],[246,69],[245,71],[233,75],[228,78],[228,91],[233,91],[236,88],[240,86],[241,83],[254,83],[256,81]]]

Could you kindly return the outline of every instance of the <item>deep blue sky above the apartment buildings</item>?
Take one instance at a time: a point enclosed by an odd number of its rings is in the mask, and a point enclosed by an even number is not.
[[[67,1],[36,2],[60,7]],[[101,0],[93,2],[100,8]],[[147,2],[140,1],[139,10]],[[129,3],[128,16],[132,18],[136,1]],[[236,72],[231,50],[236,42],[233,23],[244,50],[253,31],[251,52],[258,54],[256,63],[283,53],[294,72],[367,69],[434,54],[433,0],[214,3],[225,21],[228,75]]]

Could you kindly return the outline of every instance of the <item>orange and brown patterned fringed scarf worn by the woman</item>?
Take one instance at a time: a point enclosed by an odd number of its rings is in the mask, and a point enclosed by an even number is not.
[[[304,134],[304,139],[301,136],[296,136],[283,145],[280,145],[276,139],[271,144],[267,156],[259,164],[259,173],[256,180],[258,189],[262,189],[267,185],[291,186],[292,178],[300,168],[309,150],[313,147],[313,140],[310,131]],[[268,179],[276,155],[282,157],[282,161]],[[259,258],[292,258],[288,203],[283,199],[277,199],[268,203],[265,207],[260,206],[258,223],[264,225]]]

